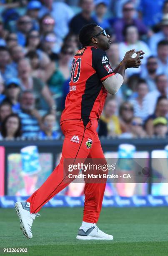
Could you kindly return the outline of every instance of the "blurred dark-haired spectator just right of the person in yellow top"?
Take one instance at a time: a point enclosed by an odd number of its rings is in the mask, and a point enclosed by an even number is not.
[[[120,117],[120,127],[122,133],[125,133],[123,136],[130,136],[130,133],[132,131],[132,120],[134,116],[134,109],[133,105],[125,101],[120,105],[119,108],[119,117]]]

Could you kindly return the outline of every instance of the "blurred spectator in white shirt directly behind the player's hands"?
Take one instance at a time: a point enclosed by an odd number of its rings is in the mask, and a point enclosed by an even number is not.
[[[124,42],[121,42],[119,44],[119,51],[120,51],[120,60],[123,59],[125,56],[125,52],[130,51],[131,49],[135,49],[135,51],[138,51],[138,49],[143,49],[145,52],[144,59],[143,59],[143,64],[145,64],[147,58],[150,56],[150,49],[148,45],[139,40],[139,33],[138,33],[138,28],[133,25],[128,25],[125,26],[125,29],[123,31],[125,40]],[[128,76],[131,76],[132,74],[140,74],[141,72],[141,67],[135,69],[135,68],[130,68],[126,70],[126,74]]]

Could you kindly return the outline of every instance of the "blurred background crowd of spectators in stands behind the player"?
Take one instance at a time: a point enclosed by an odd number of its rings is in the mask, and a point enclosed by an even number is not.
[[[145,51],[108,95],[99,136],[168,136],[168,0],[0,0],[0,139],[62,136],[78,33],[92,22],[111,36],[113,69],[126,51]]]

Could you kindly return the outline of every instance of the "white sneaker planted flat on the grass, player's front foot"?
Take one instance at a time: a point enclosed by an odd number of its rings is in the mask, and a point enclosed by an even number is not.
[[[113,236],[104,233],[95,224],[91,228],[82,226],[78,230],[78,236],[76,238],[79,240],[113,240]]]

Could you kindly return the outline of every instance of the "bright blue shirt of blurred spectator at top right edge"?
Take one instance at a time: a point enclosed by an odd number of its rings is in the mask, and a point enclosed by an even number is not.
[[[143,22],[148,27],[158,24],[162,18],[162,7],[165,0],[140,0],[138,11],[140,11]],[[149,15],[150,10],[150,15]]]

